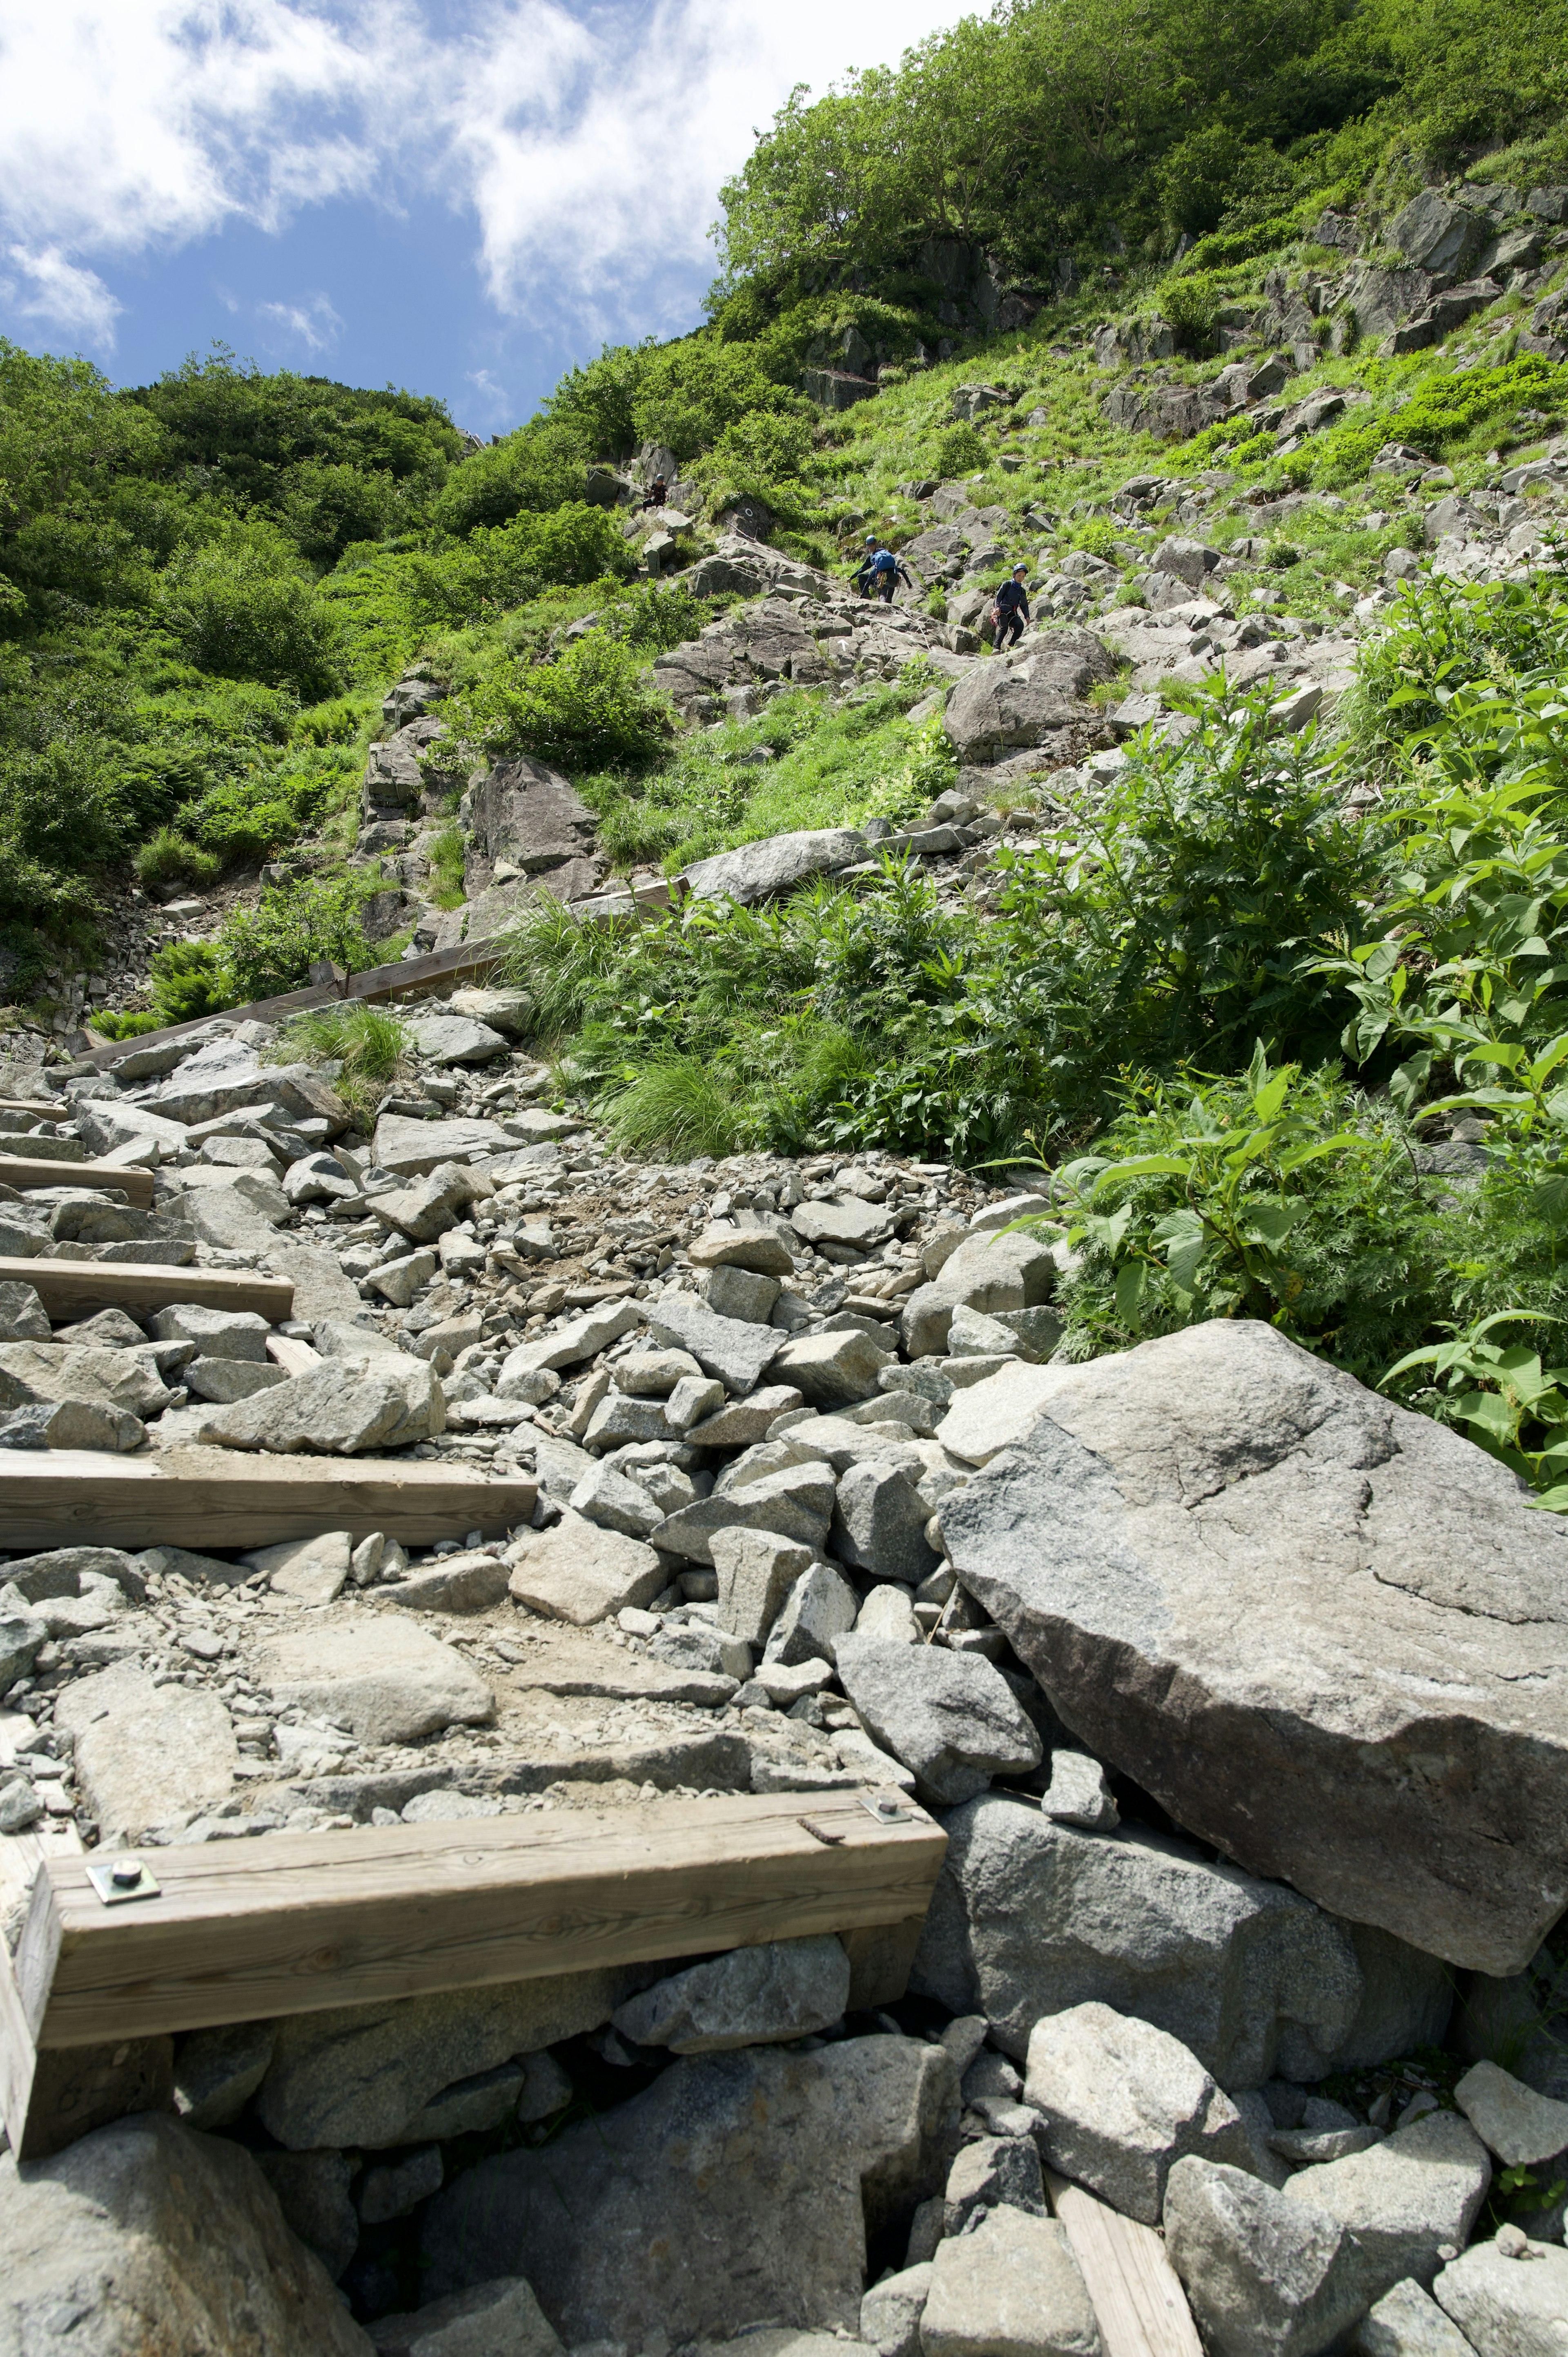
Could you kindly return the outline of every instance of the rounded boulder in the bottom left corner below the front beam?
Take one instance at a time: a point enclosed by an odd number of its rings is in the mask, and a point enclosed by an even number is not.
[[[373,2357],[252,2157],[156,2112],[0,2157],[0,2249],[17,2357]]]

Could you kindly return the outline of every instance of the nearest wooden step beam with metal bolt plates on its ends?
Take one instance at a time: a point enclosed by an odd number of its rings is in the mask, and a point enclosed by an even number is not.
[[[17,1978],[40,2048],[146,2039],[901,1923],[946,1848],[828,1791],[172,1848],[127,1907],[47,1860]]]

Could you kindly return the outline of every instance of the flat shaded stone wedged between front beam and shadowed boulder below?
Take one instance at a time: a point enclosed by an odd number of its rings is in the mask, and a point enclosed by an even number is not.
[[[846,2003],[849,1956],[825,1933],[736,1947],[627,1999],[613,2022],[637,2046],[696,2055],[804,2039],[837,2022]]]

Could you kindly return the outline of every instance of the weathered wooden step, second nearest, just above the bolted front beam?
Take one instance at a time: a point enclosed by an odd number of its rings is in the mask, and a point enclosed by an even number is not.
[[[33,1263],[28,1263],[33,1266]],[[189,1546],[245,1551],[278,1539],[384,1530],[431,1546],[481,1530],[502,1539],[528,1523],[531,1480],[457,1473],[443,1464],[354,1457],[252,1457],[170,1450],[99,1457],[92,1450],[5,1450],[0,1527],[12,1551],[45,1546]]]

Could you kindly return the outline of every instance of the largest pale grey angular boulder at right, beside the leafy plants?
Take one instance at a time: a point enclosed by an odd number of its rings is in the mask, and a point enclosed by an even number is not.
[[[1568,1890],[1568,1530],[1266,1325],[1052,1372],[941,1516],[1066,1725],[1254,1874],[1526,1963]]]

